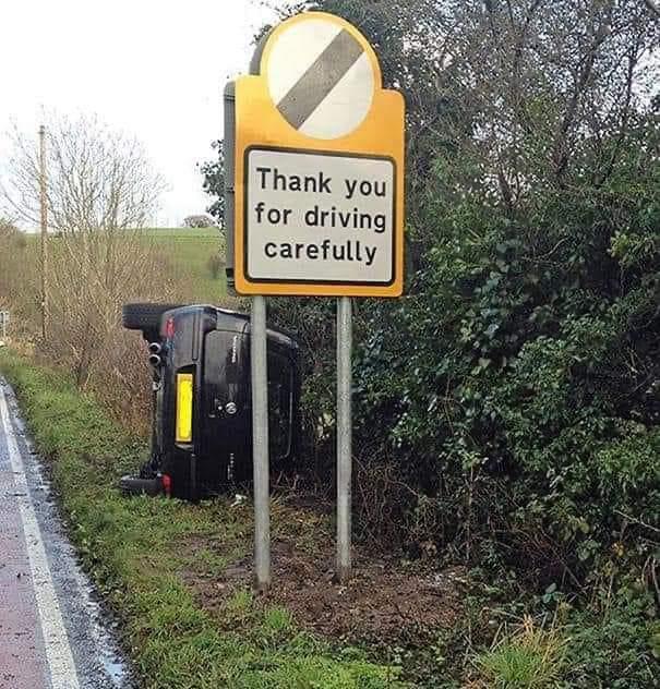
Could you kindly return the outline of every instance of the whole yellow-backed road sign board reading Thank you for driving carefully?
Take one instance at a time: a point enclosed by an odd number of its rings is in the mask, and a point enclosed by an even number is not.
[[[403,291],[404,99],[367,39],[309,12],[277,26],[236,82],[236,288]]]

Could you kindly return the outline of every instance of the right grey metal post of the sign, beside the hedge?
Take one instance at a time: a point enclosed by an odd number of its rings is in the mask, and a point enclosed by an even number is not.
[[[337,300],[337,577],[340,582],[350,578],[351,350],[351,302],[349,297],[341,297]]]

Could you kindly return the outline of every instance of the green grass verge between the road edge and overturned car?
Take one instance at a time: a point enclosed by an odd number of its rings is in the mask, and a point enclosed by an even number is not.
[[[251,543],[248,510],[228,500],[188,505],[124,498],[117,479],[145,452],[61,373],[0,351],[52,478],[81,557],[123,620],[124,641],[149,689],[381,689],[405,686],[397,668],[339,652],[296,628],[288,611],[267,607],[247,590],[225,608],[204,609],[183,572],[219,573],[207,548],[221,540],[228,558]]]

